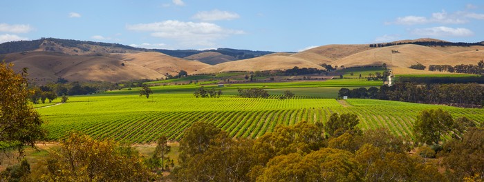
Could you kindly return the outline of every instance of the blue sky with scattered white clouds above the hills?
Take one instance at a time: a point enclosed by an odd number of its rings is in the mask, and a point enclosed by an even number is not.
[[[427,37],[484,41],[482,0],[0,1],[0,43],[53,37],[170,50],[297,52]]]

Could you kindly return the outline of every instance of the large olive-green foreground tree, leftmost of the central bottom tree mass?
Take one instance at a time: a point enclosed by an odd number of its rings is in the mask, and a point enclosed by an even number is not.
[[[212,123],[195,122],[180,141],[174,181],[249,181],[252,140],[235,141]]]

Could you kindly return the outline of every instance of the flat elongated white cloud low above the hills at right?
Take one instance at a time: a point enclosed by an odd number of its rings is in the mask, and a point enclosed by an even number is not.
[[[467,28],[449,28],[445,26],[417,28],[412,30],[411,33],[426,37],[469,37],[474,35],[474,32]]]

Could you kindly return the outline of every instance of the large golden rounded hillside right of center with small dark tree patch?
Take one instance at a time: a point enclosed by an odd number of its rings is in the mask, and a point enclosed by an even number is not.
[[[393,52],[398,51],[398,52]],[[339,59],[331,65],[344,65],[346,68],[364,65],[382,65],[387,63],[390,68],[409,68],[416,63],[425,64],[429,61],[445,57],[447,52],[422,45],[393,45],[384,48],[366,50],[349,57]]]

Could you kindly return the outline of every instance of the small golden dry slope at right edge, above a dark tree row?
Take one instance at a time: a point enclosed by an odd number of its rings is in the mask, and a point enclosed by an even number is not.
[[[449,54],[445,57],[434,59],[433,61],[429,61],[424,65],[460,65],[460,64],[472,64],[477,65],[477,63],[481,60],[484,60],[484,50],[476,51],[470,50],[465,52],[458,52],[454,54]]]

